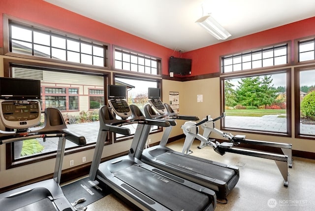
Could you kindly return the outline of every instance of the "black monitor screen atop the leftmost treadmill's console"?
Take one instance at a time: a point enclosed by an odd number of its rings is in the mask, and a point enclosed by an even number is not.
[[[0,77],[0,99],[39,100],[40,80]]]

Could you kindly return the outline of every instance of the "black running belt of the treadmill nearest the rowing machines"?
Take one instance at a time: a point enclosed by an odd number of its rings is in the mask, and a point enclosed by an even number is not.
[[[235,172],[232,169],[204,162],[195,159],[192,156],[178,155],[173,152],[164,152],[156,156],[156,159],[169,165],[180,167],[194,173],[219,179],[226,183],[228,183],[230,179],[235,175]]]

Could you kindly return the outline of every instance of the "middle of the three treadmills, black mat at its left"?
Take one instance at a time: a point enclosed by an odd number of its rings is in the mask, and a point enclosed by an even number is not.
[[[186,179],[142,163],[134,157],[146,134],[145,125],[168,127],[162,120],[146,119],[135,105],[126,103],[126,86],[108,85],[108,104],[99,109],[100,128],[92,161],[90,179],[97,180],[141,210],[212,211],[215,192]],[[130,135],[137,124],[128,155],[100,163],[109,132]],[[124,127],[126,126],[126,127]],[[106,146],[105,146],[106,148]]]

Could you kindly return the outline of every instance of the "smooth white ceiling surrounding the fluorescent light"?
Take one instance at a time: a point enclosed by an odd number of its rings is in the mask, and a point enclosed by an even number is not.
[[[315,0],[45,1],[182,52],[225,41],[195,23],[208,13],[232,35],[226,40],[315,16]]]

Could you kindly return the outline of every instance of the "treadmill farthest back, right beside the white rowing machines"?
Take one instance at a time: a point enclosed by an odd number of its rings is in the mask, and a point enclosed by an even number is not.
[[[136,158],[148,165],[208,187],[216,192],[218,198],[227,201],[226,196],[239,180],[237,167],[187,155],[166,147],[171,129],[176,125],[175,120],[192,120],[193,117],[177,115],[168,104],[163,104],[158,88],[149,88],[149,104],[144,106],[144,113],[150,119],[168,120],[171,126],[165,128],[159,145],[141,150]],[[145,127],[149,128],[150,125]],[[143,149],[145,143],[146,140],[142,140],[139,148]]]

